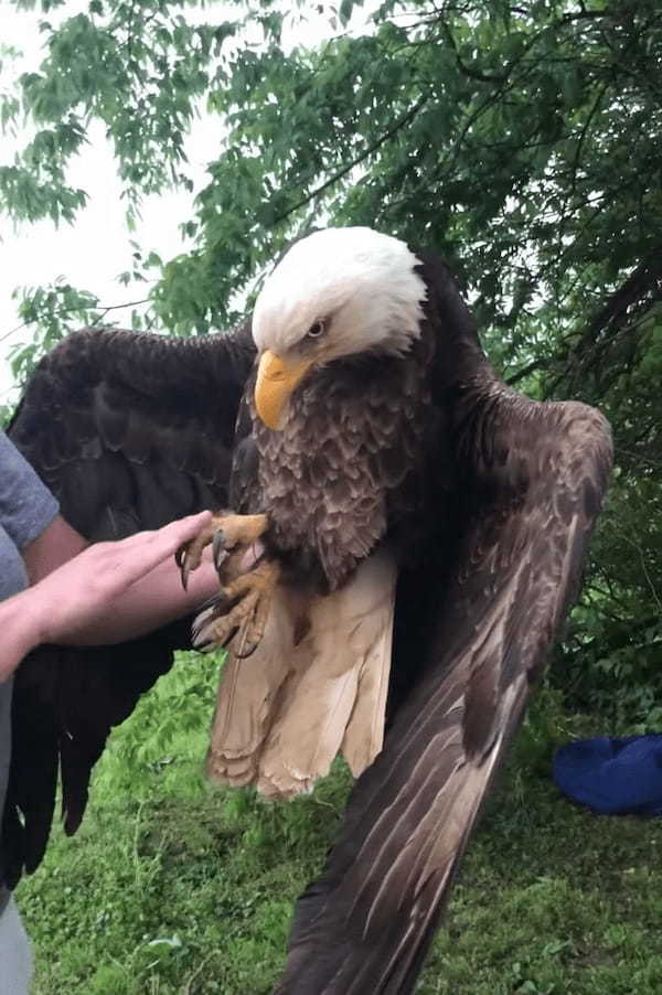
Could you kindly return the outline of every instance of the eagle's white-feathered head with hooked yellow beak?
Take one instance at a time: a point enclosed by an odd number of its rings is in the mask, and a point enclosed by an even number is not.
[[[327,228],[292,246],[253,314],[261,354],[255,402],[266,425],[280,427],[289,395],[311,368],[409,349],[426,297],[417,264],[403,242],[372,228]]]

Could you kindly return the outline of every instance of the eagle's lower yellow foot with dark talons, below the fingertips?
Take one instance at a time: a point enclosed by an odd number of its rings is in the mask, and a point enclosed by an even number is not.
[[[221,597],[214,598],[193,622],[193,645],[211,650],[236,639],[234,655],[250,656],[265,634],[279,576],[279,565],[264,560],[249,574],[242,574],[222,587]]]

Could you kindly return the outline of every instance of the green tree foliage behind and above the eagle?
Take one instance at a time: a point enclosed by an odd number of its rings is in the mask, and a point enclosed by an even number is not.
[[[369,224],[445,253],[506,378],[611,419],[615,485],[562,652],[566,683],[584,704],[618,697],[624,717],[662,717],[658,0],[386,0],[359,31],[342,0],[319,6],[335,30],[309,47],[287,42],[269,0],[222,15],[167,0],[57,7],[42,2],[42,65],[3,98],[6,126],[34,126],[0,168],[6,213],[75,223],[85,191],[67,173],[95,120],[129,214],[186,186],[203,107],[218,154],[184,225],[192,248],[150,260],[151,314],[168,330],[231,322],[312,225]],[[61,303],[53,290],[23,303],[47,344]],[[67,327],[94,311],[79,303]]]

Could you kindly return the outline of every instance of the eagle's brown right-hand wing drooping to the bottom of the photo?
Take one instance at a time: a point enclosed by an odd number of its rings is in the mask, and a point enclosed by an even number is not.
[[[354,787],[323,876],[299,899],[279,995],[414,991],[578,589],[611,464],[609,427],[585,405],[513,394],[470,343],[466,354],[462,375],[448,378],[445,431],[459,469],[458,500],[444,507],[450,527],[441,523],[427,563],[398,586],[394,671],[412,686]]]

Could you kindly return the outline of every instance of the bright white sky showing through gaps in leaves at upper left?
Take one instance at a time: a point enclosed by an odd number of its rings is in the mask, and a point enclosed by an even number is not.
[[[1,2],[1,0],[0,0]],[[17,11],[7,0],[1,4],[2,36],[6,45],[21,51],[22,57],[12,66],[12,75],[39,67],[42,35],[38,25],[43,14],[34,11]],[[376,3],[367,3],[352,22],[360,30]],[[87,3],[68,0],[57,9],[57,19],[86,9]],[[328,14],[309,13],[307,21],[291,33],[292,43],[314,44],[329,38],[332,30]],[[223,10],[222,4],[195,11],[195,17],[223,20],[233,15],[236,8]],[[55,18],[50,15],[50,20]],[[7,81],[4,81],[7,86]],[[141,221],[136,231],[129,232],[120,202],[120,183],[115,172],[111,149],[103,126],[96,125],[88,133],[89,145],[74,160],[68,182],[81,186],[88,194],[88,204],[74,225],[56,228],[51,222],[22,225],[15,228],[0,215],[0,403],[12,394],[9,350],[18,342],[28,341],[30,330],[18,329],[20,320],[17,302],[11,300],[15,287],[36,287],[52,283],[64,277],[76,289],[88,290],[99,297],[103,306],[118,304],[146,297],[145,283],[122,287],[117,282],[120,272],[130,269],[131,246],[136,240],[147,253],[156,250],[164,260],[185,250],[179,225],[193,213],[195,193],[206,185],[206,163],[217,158],[222,122],[217,117],[197,120],[186,142],[189,171],[195,184],[193,194],[184,192],[161,194],[142,203]],[[15,142],[0,135],[0,162],[12,161]],[[114,320],[128,320],[128,312],[113,312]]]

